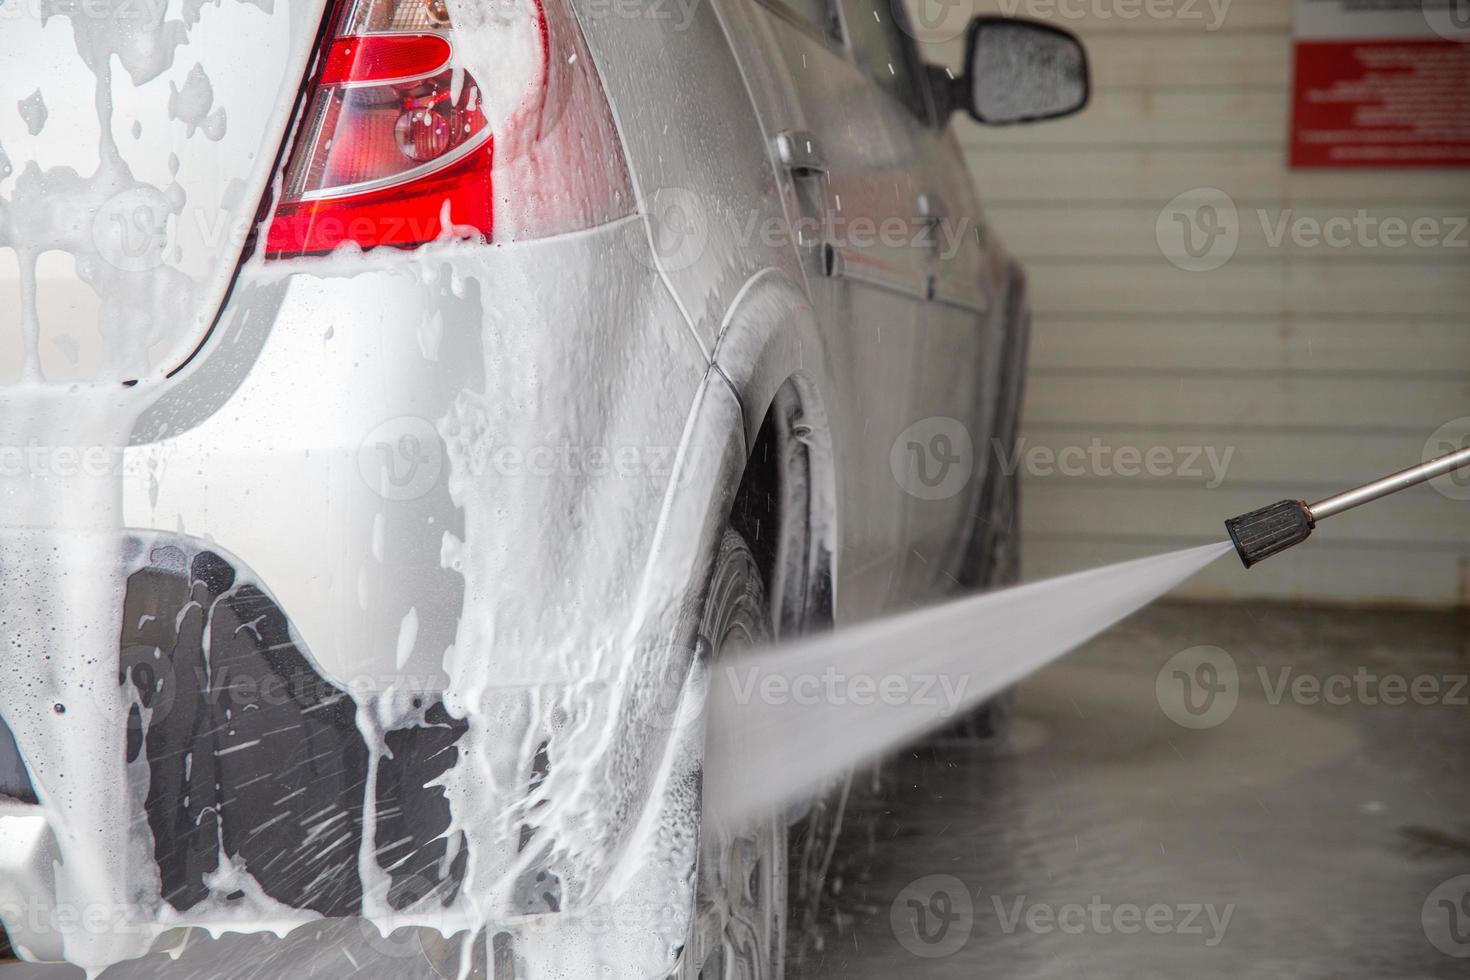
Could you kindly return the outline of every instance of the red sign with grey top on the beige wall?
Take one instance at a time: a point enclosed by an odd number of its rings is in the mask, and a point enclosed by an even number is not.
[[[1470,166],[1466,3],[1298,0],[1291,165]]]

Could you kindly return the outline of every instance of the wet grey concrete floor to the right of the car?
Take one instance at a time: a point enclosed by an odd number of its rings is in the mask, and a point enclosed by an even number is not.
[[[858,780],[791,973],[1470,977],[1467,674],[1464,614],[1145,610]]]

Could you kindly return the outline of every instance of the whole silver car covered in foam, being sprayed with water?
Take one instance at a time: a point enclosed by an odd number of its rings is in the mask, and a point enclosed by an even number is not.
[[[1014,576],[948,120],[1080,109],[1076,41],[0,12],[0,974],[781,977],[835,808],[704,811],[711,666]]]

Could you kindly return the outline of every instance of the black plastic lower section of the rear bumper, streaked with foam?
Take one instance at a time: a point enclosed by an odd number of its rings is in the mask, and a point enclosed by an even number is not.
[[[143,798],[147,874],[159,879],[159,902],[65,908],[54,899],[62,855],[46,810],[4,804],[0,918],[12,945],[60,959],[65,933],[76,929],[141,929],[196,909],[206,921],[241,921],[259,909],[244,892],[218,893],[228,861],[248,868],[281,907],[360,912],[366,814],[390,905],[453,899],[467,855],[463,837],[448,833],[442,788],[431,783],[457,761],[454,742],[466,724],[448,716],[442,698],[409,695],[419,707],[385,733],[392,755],[369,779],[357,714],[376,705],[360,705],[322,677],[248,569],[173,535],[132,535],[121,551],[122,763],[141,790],[134,798]]]

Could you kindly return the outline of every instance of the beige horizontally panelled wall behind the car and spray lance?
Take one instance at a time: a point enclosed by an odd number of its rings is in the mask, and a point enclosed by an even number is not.
[[[1030,275],[1028,579],[1223,539],[1226,517],[1327,497],[1470,433],[1470,170],[1288,169],[1291,0],[1235,0],[1217,25],[1205,0],[1152,4],[1172,16],[1142,6],[973,9],[1072,29],[1094,76],[1092,104],[1073,119],[956,123],[988,217]],[[963,37],[935,40],[953,28],[914,31],[929,60],[960,66]],[[1236,251],[1210,272],[1177,267],[1155,234],[1194,188],[1238,209]],[[1282,220],[1360,212],[1432,217],[1442,241],[1273,241]],[[1045,450],[1066,447],[1089,453],[1085,472],[1048,466]],[[1157,447],[1155,463],[1173,463],[1155,475],[1111,463]],[[1185,594],[1470,602],[1470,480],[1335,517],[1248,573],[1220,561]]]

